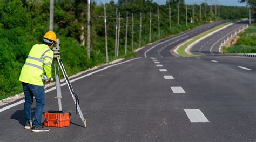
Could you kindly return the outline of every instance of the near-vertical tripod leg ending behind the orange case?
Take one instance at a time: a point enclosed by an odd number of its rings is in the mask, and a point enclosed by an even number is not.
[[[62,90],[60,89],[60,80],[59,80],[59,69],[58,72],[56,72],[56,60],[53,60],[53,65],[54,65],[54,72],[55,72],[55,79],[56,79],[56,91],[57,91],[57,98],[58,99],[58,105],[59,105],[59,111],[62,111]],[[57,63],[58,65],[58,63]]]

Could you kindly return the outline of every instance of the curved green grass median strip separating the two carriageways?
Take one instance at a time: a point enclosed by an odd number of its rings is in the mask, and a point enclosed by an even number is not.
[[[187,48],[188,45],[196,42],[196,40],[204,37],[204,36],[207,36],[208,34],[210,34],[211,32],[215,31],[215,30],[218,30],[220,28],[222,28],[223,26],[226,26],[228,24],[231,24],[231,22],[227,22],[227,23],[224,23],[224,24],[221,24],[219,26],[216,26],[215,28],[213,29],[210,29],[208,31],[205,31],[203,33],[201,33],[200,35],[196,36],[196,37],[193,37],[191,40],[187,40],[183,45],[181,45],[178,49],[177,49],[177,52],[180,56],[183,56],[183,57],[198,57],[200,55],[190,55],[188,53],[185,52],[185,49]]]

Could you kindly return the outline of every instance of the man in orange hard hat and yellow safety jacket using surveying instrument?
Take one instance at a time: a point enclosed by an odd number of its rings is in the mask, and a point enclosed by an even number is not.
[[[53,31],[45,33],[43,44],[36,44],[29,52],[29,56],[21,70],[19,81],[22,82],[23,91],[25,94],[24,115],[26,124],[25,129],[31,129],[29,121],[31,118],[31,105],[33,97],[36,99],[35,118],[33,121],[32,132],[49,131],[41,125],[41,119],[45,104],[44,83],[41,77],[46,74],[47,80],[51,78],[51,63],[53,59],[53,48],[56,42],[56,35]]]

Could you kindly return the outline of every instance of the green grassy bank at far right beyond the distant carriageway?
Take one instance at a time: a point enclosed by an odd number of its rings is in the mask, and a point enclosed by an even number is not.
[[[256,53],[256,23],[244,33],[239,34],[237,43],[231,47],[223,47],[223,53]]]

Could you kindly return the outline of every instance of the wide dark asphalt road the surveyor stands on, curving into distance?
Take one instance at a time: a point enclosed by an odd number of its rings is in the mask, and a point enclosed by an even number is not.
[[[21,104],[0,112],[0,141],[256,141],[256,59],[184,58],[169,52],[201,28],[72,82],[86,129],[65,85],[62,103],[72,113],[69,127],[25,130]],[[56,90],[46,93],[44,111],[57,110],[54,96]]]

